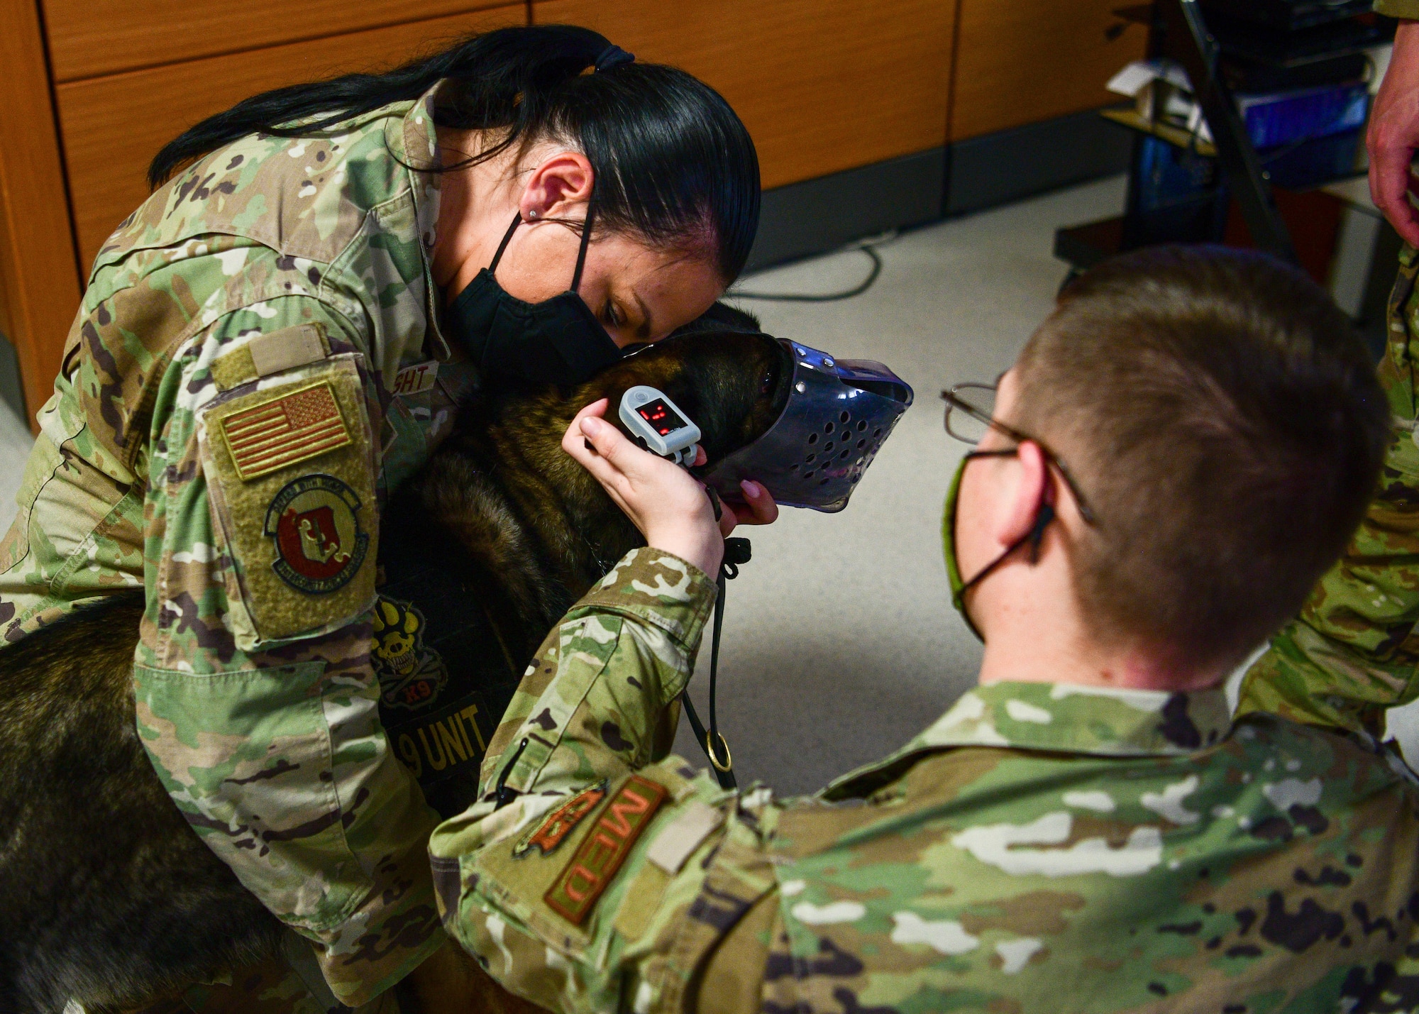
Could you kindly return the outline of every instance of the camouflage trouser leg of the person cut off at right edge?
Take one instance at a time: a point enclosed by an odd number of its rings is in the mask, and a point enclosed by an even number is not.
[[[1395,415],[1379,490],[1341,560],[1243,683],[1239,713],[1382,736],[1385,710],[1419,697],[1419,297],[1412,247],[1401,254],[1379,381]]]

